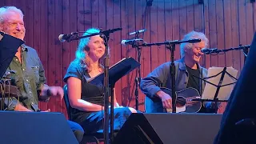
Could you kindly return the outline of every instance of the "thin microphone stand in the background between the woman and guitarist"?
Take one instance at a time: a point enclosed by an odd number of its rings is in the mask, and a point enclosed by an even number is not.
[[[136,33],[135,39],[138,39],[138,33]],[[142,48],[140,46],[138,46],[138,42],[134,42],[132,47],[136,48],[136,50],[138,51],[138,63],[141,63]],[[136,74],[136,78],[135,78],[136,87],[135,87],[135,92],[134,92],[136,110],[138,110],[138,86],[140,85],[141,79],[142,79],[141,66],[138,66],[137,74]]]

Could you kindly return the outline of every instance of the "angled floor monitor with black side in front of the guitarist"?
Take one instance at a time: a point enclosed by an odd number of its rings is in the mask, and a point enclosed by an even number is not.
[[[113,143],[213,143],[221,119],[222,114],[131,114]]]

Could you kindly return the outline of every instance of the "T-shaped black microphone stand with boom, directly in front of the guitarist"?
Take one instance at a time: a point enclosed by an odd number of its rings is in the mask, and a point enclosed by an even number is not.
[[[189,42],[189,43],[196,43],[196,42],[201,42],[201,39],[190,39],[186,41],[166,41],[166,42],[161,42],[161,43],[143,43],[142,45],[138,46],[161,46],[165,45],[168,50],[170,50],[170,76],[171,76],[171,98],[172,98],[172,113],[176,113],[176,100],[177,100],[177,95],[175,94],[175,65],[174,65],[174,50],[175,50],[175,45],[176,44],[181,44],[183,42]]]

